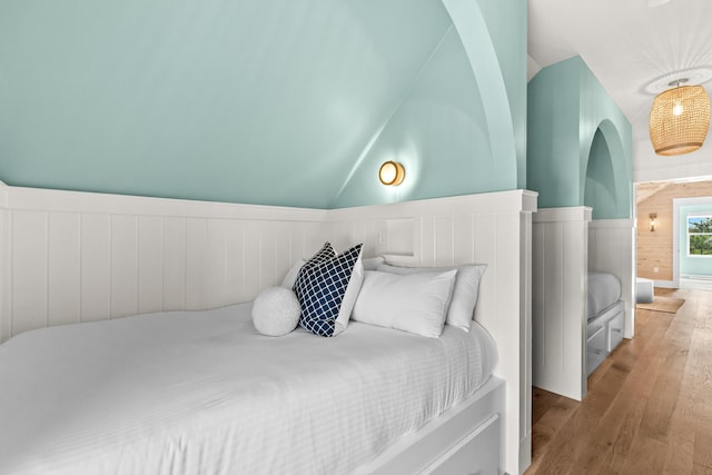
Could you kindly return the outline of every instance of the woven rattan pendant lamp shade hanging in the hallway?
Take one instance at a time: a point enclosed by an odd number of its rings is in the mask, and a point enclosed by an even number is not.
[[[702,86],[682,86],[660,93],[650,111],[650,139],[657,155],[695,151],[708,136],[710,98]]]

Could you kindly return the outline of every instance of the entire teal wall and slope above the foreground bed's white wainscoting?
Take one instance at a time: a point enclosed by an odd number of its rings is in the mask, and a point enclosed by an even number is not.
[[[315,208],[517,188],[525,38],[522,0],[6,0],[0,180]],[[388,149],[421,160],[395,192]]]

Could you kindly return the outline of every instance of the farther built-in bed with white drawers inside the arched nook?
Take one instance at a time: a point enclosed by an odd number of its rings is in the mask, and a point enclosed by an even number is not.
[[[595,368],[623,340],[625,305],[621,280],[611,273],[589,271],[586,370]]]

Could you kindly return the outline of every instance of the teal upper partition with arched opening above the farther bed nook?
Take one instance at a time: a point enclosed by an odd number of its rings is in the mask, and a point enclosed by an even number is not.
[[[532,78],[527,127],[527,188],[540,192],[541,208],[632,216],[631,125],[580,57]]]

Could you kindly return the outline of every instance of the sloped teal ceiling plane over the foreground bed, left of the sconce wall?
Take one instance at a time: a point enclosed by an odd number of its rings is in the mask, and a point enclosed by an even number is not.
[[[451,30],[439,0],[3,1],[0,179],[327,207]]]

